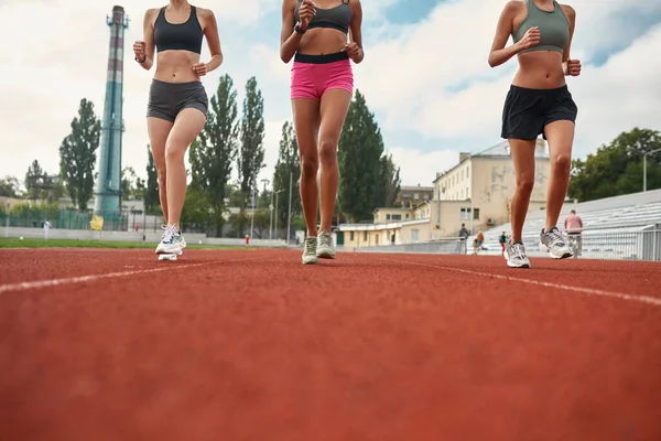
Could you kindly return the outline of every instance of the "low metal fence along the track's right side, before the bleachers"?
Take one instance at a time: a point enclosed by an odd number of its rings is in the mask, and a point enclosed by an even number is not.
[[[545,255],[540,250],[540,236],[523,236],[525,250],[530,256]],[[480,252],[483,255],[500,256],[500,244],[494,246],[491,243],[489,250]],[[661,261],[661,229],[648,229],[639,232],[611,232],[600,233],[599,230],[584,232],[576,243],[578,252],[576,258],[598,259],[598,260],[640,260],[640,261]],[[473,239],[468,243],[458,237],[434,240],[429,243],[411,243],[398,245],[384,245],[372,247],[345,247],[346,251],[362,252],[419,252],[419,254],[442,254],[442,255],[462,255],[470,248],[473,252]]]

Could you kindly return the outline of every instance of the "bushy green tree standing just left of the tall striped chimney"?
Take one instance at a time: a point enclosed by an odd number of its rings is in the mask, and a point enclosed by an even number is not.
[[[94,194],[94,166],[101,135],[101,121],[95,115],[91,101],[80,100],[78,116],[71,127],[72,132],[59,147],[59,168],[74,205],[85,211]]]

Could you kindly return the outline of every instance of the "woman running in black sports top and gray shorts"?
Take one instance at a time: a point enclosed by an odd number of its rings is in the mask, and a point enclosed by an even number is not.
[[[176,260],[186,241],[180,216],[186,195],[184,155],[206,122],[208,98],[201,76],[223,63],[218,26],[214,13],[195,8],[186,0],[170,0],[161,9],[144,14],[144,41],[133,44],[136,61],[156,72],[149,90],[147,129],[159,173],[159,197],[165,226],[156,254]],[[206,36],[212,60],[199,62],[202,40]]]

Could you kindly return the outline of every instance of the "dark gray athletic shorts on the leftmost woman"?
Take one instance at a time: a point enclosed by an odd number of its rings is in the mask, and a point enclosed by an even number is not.
[[[187,108],[197,109],[206,117],[209,99],[201,82],[165,83],[152,79],[147,105],[148,118],[174,122],[178,112]]]

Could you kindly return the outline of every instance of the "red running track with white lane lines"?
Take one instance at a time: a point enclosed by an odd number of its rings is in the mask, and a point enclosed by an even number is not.
[[[0,440],[661,439],[660,265],[72,249],[0,262]]]

